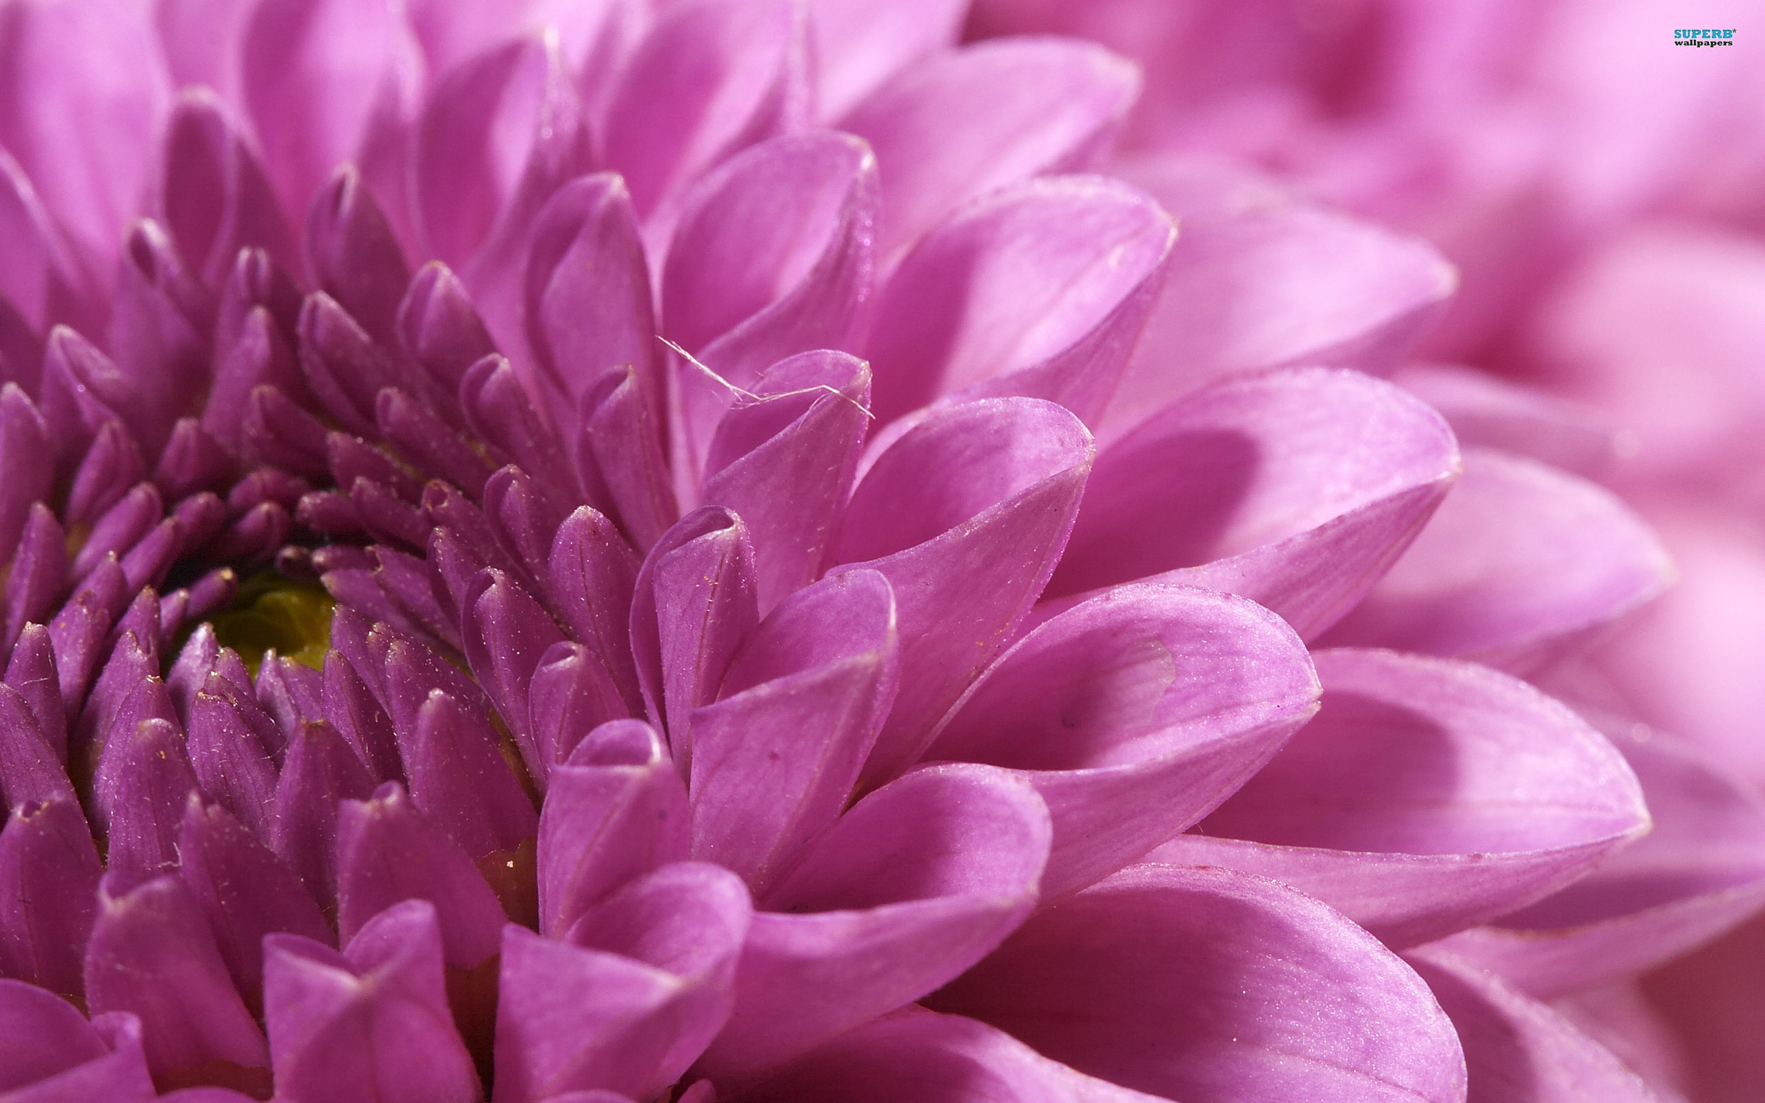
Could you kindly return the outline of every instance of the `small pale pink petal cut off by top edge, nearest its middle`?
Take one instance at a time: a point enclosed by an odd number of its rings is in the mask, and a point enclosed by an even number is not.
[[[840,118],[900,69],[955,46],[965,9],[962,0],[814,0],[808,26],[821,120]]]

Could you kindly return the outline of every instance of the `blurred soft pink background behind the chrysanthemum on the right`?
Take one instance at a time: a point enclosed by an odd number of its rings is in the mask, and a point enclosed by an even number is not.
[[[1456,265],[1419,351],[1476,371],[1394,379],[1467,443],[1604,482],[1679,570],[1541,683],[1765,785],[1765,4],[976,0],[971,37],[1022,32],[1144,65],[1130,178],[1243,159]],[[1211,214],[1179,212],[1177,270]],[[1761,1098],[1765,921],[1640,992],[1558,1009],[1663,1098]]]

